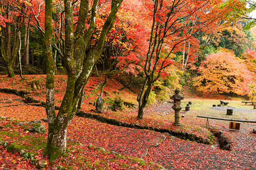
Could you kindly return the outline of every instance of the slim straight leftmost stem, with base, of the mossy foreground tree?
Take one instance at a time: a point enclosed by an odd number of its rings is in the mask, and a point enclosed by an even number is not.
[[[54,79],[55,79],[55,62],[52,57],[52,0],[46,0],[46,12],[45,12],[45,33],[44,33],[44,57],[47,65],[47,77],[46,77],[46,113],[48,119],[48,138],[47,146],[44,150],[44,155],[48,155],[51,162],[56,158],[53,157],[53,153],[57,153],[56,156],[60,156],[65,134],[67,130],[63,131],[60,125],[62,122],[56,122],[55,114],[55,100],[54,100]],[[57,128],[56,128],[56,127]],[[63,135],[64,136],[61,136]],[[59,141],[55,139],[58,138]]]

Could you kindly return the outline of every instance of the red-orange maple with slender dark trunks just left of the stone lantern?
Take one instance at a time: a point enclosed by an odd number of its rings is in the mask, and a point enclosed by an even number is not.
[[[229,5],[239,2],[229,1]],[[199,41],[193,36],[199,32],[214,32],[222,18],[232,10],[221,8],[222,1],[144,1],[152,22],[148,52],[144,59],[144,81],[138,94],[138,118],[143,118],[143,110],[147,104],[152,85],[166,74],[168,66],[175,63],[171,54],[183,51],[186,41],[191,45],[187,48],[187,58],[192,56],[192,46],[198,46]],[[194,41],[193,41],[194,40]],[[192,43],[194,45],[192,45]],[[196,48],[195,48],[196,49]],[[183,59],[187,65],[187,59]]]

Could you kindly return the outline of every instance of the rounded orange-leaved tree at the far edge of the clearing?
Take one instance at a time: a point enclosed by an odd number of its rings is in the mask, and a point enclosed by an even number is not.
[[[249,92],[248,84],[252,80],[252,75],[241,59],[236,58],[234,54],[210,54],[201,63],[198,71],[200,75],[193,79],[193,86],[199,91],[237,95],[246,95]]]

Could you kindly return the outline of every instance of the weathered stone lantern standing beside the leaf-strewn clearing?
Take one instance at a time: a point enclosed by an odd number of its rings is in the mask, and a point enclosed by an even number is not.
[[[174,125],[174,126],[181,126],[181,125],[182,125],[182,124],[180,123],[180,110],[181,110],[180,104],[181,104],[181,100],[183,100],[184,97],[181,96],[181,95],[179,94],[179,92],[180,92],[180,91],[176,89],[176,90],[175,90],[175,95],[173,95],[173,96],[170,97],[170,99],[174,100],[174,106],[172,107],[172,109],[174,109],[174,111],[175,111],[175,115],[174,115],[175,121],[174,121],[174,123],[172,124],[172,125]]]

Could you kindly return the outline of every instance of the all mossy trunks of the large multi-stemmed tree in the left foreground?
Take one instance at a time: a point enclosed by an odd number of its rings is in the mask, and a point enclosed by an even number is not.
[[[66,150],[66,137],[67,137],[67,129],[68,125],[71,123],[72,118],[75,116],[77,112],[77,105],[79,103],[79,99],[81,96],[82,88],[84,88],[87,83],[90,74],[92,73],[93,66],[98,61],[102,50],[104,48],[104,43],[106,39],[106,35],[108,35],[112,25],[114,23],[117,11],[121,5],[123,0],[113,0],[112,1],[112,9],[108,18],[106,19],[105,24],[103,25],[102,32],[100,38],[97,42],[95,48],[92,48],[90,52],[86,52],[86,48],[88,44],[92,44],[91,36],[93,35],[93,31],[95,28],[95,18],[96,18],[96,10],[98,5],[98,0],[93,1],[92,8],[89,9],[89,1],[81,0],[80,10],[79,10],[79,18],[77,20],[76,29],[73,28],[73,1],[65,0],[65,49],[64,49],[64,58],[65,67],[68,72],[68,82],[67,88],[65,91],[65,95],[63,101],[60,106],[60,110],[55,115],[53,113],[54,108],[54,59],[52,54],[46,53],[47,58],[47,77],[49,77],[47,82],[47,117],[48,117],[48,141],[47,147],[44,151],[44,154],[49,156],[50,161],[52,162],[61,154],[63,154]],[[51,0],[46,1],[46,23],[49,24],[51,18]],[[49,11],[48,11],[49,10]],[[89,12],[90,11],[90,12]],[[90,13],[90,25],[89,28],[85,29],[86,18],[88,17],[88,12]],[[52,28],[51,28],[52,29]],[[47,30],[47,29],[46,29]],[[50,43],[47,42],[50,40],[49,35],[45,33],[44,40],[46,44],[48,44],[48,48],[50,49]],[[49,33],[51,34],[51,33]],[[47,38],[48,37],[48,38]],[[45,47],[46,50],[47,47]],[[50,51],[49,51],[50,52]],[[48,68],[50,67],[50,68]],[[48,76],[49,75],[49,76]]]

